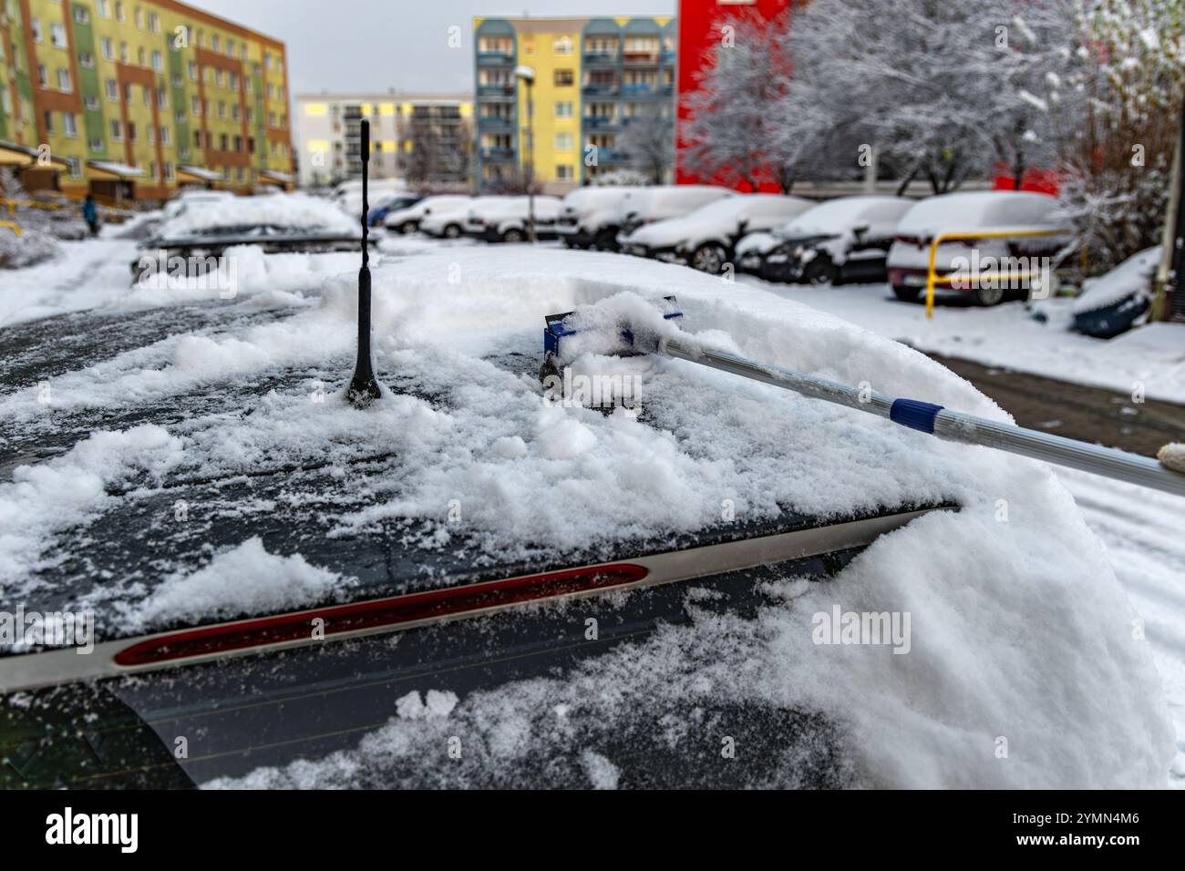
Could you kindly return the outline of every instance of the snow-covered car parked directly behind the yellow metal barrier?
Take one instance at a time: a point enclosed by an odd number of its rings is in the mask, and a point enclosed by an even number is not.
[[[902,217],[889,249],[889,283],[897,299],[917,299],[925,288],[931,244],[950,233],[969,238],[939,245],[935,287],[971,293],[981,306],[1029,290],[1056,265],[1051,258],[1068,238],[1057,200],[1043,193],[976,191],[923,199]]]

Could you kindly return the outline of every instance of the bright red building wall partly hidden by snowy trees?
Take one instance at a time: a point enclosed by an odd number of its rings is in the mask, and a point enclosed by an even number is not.
[[[686,149],[684,132],[687,124],[685,98],[699,89],[698,75],[710,66],[716,57],[716,47],[720,44],[722,27],[730,20],[757,14],[771,20],[782,14],[792,5],[792,0],[744,0],[720,2],[720,0],[679,0],[679,126],[675,135],[675,184],[703,185],[723,184],[718,179],[704,179],[691,172],[685,165]],[[803,6],[805,0],[799,0]],[[747,188],[741,185],[738,190]],[[763,184],[761,190],[779,193],[777,185]]]

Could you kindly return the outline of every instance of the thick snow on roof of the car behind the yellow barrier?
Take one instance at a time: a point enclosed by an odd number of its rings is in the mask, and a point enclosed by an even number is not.
[[[917,203],[905,212],[901,236],[933,237],[999,228],[1001,230],[1050,230],[1064,225],[1053,197],[1023,191],[975,191],[947,193]]]

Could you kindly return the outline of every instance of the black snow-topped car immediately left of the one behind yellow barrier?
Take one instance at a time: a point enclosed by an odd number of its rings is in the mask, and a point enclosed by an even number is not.
[[[902,216],[899,197],[840,197],[770,232],[737,243],[737,268],[766,281],[843,284],[888,281],[885,260]]]

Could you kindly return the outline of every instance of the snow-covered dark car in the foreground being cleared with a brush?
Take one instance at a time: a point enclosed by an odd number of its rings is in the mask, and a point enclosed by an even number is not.
[[[1165,784],[1050,467],[686,360],[533,371],[545,315],[677,295],[688,342],[1007,420],[939,363],[654,261],[450,248],[372,263],[356,409],[357,269],[260,261],[0,328],[53,372],[0,386],[0,598],[56,630],[0,641],[0,786]]]

